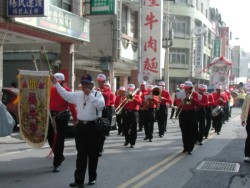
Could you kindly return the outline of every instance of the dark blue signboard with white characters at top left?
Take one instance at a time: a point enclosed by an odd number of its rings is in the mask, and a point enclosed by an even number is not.
[[[7,0],[8,17],[46,17],[48,0]]]

